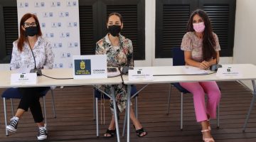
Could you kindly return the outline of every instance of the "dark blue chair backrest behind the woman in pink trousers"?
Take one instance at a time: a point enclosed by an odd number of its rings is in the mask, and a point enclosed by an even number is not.
[[[180,47],[171,48],[172,50],[172,57],[173,57],[173,65],[185,65],[184,60],[184,51],[181,50]]]

